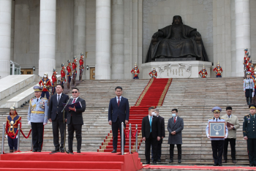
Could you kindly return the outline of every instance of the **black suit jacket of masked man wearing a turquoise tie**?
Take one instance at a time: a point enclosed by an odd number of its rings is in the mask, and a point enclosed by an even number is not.
[[[142,119],[141,132],[142,132],[142,137],[148,138],[150,135],[150,123],[149,123],[148,115],[146,115]],[[161,135],[161,126],[160,126],[159,118],[156,116],[153,116],[152,118],[151,132],[152,132],[152,137],[154,138],[160,137]]]

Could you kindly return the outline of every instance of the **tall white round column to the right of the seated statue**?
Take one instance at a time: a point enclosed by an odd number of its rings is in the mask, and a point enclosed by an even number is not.
[[[236,6],[236,77],[244,76],[244,48],[251,51],[249,0],[235,0]]]

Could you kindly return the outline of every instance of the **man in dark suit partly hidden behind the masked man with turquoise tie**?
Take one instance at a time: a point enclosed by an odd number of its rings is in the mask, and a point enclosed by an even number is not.
[[[161,140],[158,141],[157,143],[157,162],[161,162],[161,154],[162,154],[162,140],[165,137],[165,118],[162,118],[162,116],[159,115],[159,110],[156,108],[154,109],[154,113],[157,114],[157,118],[159,118],[159,122],[160,122],[160,129],[161,129]],[[151,159],[152,162],[154,161],[154,152],[153,152],[153,148],[151,146]]]

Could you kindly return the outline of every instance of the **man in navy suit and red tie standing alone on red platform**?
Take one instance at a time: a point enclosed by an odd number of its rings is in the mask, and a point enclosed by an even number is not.
[[[118,141],[118,129],[121,135],[121,123],[125,125],[129,121],[129,101],[128,99],[121,96],[123,93],[123,88],[120,86],[116,87],[116,97],[110,99],[108,107],[108,123],[112,126],[113,133],[113,151],[116,153],[117,141]],[[125,146],[125,137],[124,137]]]

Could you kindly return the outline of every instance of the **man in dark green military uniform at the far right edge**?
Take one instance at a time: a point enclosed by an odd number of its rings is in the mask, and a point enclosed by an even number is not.
[[[256,167],[256,106],[249,105],[249,115],[244,116],[243,133],[244,140],[247,141],[247,151],[249,156],[249,166]]]

